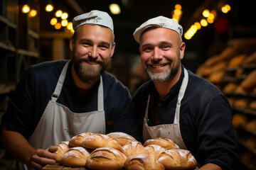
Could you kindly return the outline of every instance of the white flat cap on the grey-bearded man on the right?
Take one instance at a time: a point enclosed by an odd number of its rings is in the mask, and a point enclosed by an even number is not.
[[[140,37],[142,36],[143,31],[149,27],[159,27],[159,28],[168,28],[170,30],[175,30],[178,35],[182,37],[183,28],[176,21],[171,18],[166,18],[164,16],[157,16],[156,18],[151,18],[145,23],[142,23],[133,33],[134,39],[139,42]]]

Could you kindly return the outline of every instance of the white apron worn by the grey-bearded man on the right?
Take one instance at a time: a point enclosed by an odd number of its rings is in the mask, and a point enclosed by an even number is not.
[[[187,85],[188,85],[188,71],[184,68],[184,78],[181,84],[181,89],[178,92],[178,102],[176,105],[174,124],[156,125],[156,126],[149,126],[147,124],[150,96],[148,97],[148,102],[146,105],[146,111],[145,111],[145,117],[144,117],[144,124],[143,124],[143,140],[144,141],[149,139],[154,139],[156,137],[166,137],[176,142],[176,144],[181,149],[186,149],[186,145],[184,144],[181,137],[179,118],[180,118],[180,110],[181,110],[181,100],[185,94]]]

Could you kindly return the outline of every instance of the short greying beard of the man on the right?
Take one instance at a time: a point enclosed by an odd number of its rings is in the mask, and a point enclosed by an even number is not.
[[[149,75],[149,77],[152,81],[161,83],[161,82],[164,82],[164,81],[170,79],[171,77],[175,77],[175,75],[178,73],[178,69],[179,69],[180,65],[181,65],[181,60],[178,60],[177,67],[170,68],[164,72],[163,71],[151,72],[151,70],[147,67],[146,73]],[[171,67],[171,64],[169,65],[169,67]]]

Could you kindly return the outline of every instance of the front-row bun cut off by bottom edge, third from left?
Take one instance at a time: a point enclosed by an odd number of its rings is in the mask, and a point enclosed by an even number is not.
[[[164,166],[152,154],[136,154],[129,157],[124,162],[124,167],[127,170],[164,170]]]

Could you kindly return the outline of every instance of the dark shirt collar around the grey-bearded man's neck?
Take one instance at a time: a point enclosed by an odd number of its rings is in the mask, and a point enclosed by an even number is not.
[[[148,89],[149,95],[155,98],[158,102],[161,102],[163,104],[167,103],[172,99],[174,99],[176,96],[178,96],[178,92],[181,89],[183,78],[184,78],[184,67],[181,64],[181,77],[178,79],[177,83],[174,84],[174,86],[170,89],[169,93],[166,96],[164,96],[163,98],[160,98],[158,92],[156,91],[153,81],[150,81],[149,83],[149,89]]]

